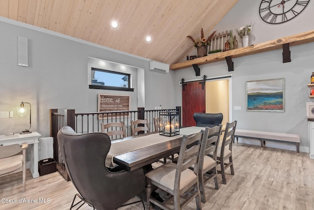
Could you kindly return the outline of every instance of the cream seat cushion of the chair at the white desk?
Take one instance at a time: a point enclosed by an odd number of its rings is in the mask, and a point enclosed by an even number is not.
[[[0,175],[15,171],[23,166],[23,155],[14,155],[0,159]]]

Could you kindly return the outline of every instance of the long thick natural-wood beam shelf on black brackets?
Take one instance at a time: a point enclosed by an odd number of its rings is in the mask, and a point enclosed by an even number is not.
[[[282,49],[283,44],[289,43],[289,46],[296,46],[300,44],[306,44],[314,42],[314,30],[307,31],[304,33],[298,33],[291,36],[286,36],[279,39],[274,39],[267,42],[262,42],[259,44],[252,44],[248,47],[242,47],[235,50],[225,51],[221,53],[209,54],[208,56],[197,58],[193,60],[187,60],[181,63],[175,63],[170,65],[171,70],[178,70],[182,68],[191,67],[192,64],[202,65],[211,62],[217,62],[225,60],[226,57],[238,58],[248,55],[253,55],[257,53],[263,53],[271,50]]]

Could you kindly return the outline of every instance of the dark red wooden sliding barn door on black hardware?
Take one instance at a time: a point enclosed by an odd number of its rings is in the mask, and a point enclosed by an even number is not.
[[[204,82],[185,83],[182,88],[182,125],[195,126],[195,112],[206,112]]]

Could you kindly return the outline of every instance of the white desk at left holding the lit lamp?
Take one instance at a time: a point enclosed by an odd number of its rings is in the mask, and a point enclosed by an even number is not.
[[[27,143],[28,148],[31,150],[30,154],[30,173],[33,178],[39,177],[38,173],[38,138],[41,134],[33,131],[28,134],[14,134],[14,135],[1,135],[0,136],[0,147]],[[26,150],[28,150],[28,148]],[[27,159],[27,158],[26,158]]]

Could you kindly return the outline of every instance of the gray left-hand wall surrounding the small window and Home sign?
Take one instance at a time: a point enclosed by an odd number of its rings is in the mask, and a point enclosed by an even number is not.
[[[29,119],[17,118],[21,101],[32,105],[32,131],[49,136],[49,109],[72,108],[97,112],[98,93],[131,95],[131,110],[137,110],[137,83],[145,81],[145,108],[161,105],[174,108],[174,72],[149,70],[149,60],[107,50],[95,44],[75,41],[54,32],[0,18],[0,111],[14,111],[11,119],[0,119],[0,135],[21,132]],[[18,36],[28,38],[28,67],[18,66]],[[132,77],[129,91],[88,88],[88,57],[123,63],[144,69],[143,81]],[[169,97],[170,95],[170,97]],[[26,105],[27,106],[27,105]]]

